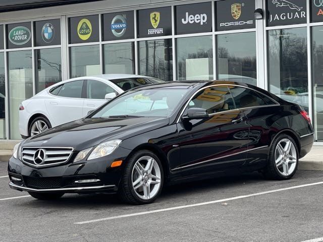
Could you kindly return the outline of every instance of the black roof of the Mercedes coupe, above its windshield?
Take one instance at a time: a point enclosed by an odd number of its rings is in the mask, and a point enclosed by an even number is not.
[[[210,86],[210,85],[239,85],[251,88],[252,85],[239,83],[239,82],[232,82],[232,81],[218,81],[218,80],[186,80],[186,81],[171,81],[165,83],[156,83],[156,84],[149,84],[145,86],[140,86],[133,88],[132,90],[145,90],[151,88],[193,88],[193,87],[203,87],[203,86]]]

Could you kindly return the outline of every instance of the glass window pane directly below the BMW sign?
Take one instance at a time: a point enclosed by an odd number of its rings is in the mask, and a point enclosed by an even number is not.
[[[36,93],[62,81],[61,48],[35,50]]]

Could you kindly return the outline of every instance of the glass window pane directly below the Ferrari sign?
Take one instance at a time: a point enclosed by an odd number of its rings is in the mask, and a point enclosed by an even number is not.
[[[139,42],[139,74],[173,80],[172,39]]]

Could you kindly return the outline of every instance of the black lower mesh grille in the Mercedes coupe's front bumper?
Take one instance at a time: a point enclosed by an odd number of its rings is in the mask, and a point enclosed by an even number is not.
[[[27,188],[34,189],[54,189],[62,187],[61,177],[29,177],[24,176],[24,181]]]

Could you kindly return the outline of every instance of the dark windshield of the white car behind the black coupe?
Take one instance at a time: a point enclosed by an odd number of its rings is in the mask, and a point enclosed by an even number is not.
[[[122,88],[122,90],[124,91],[127,91],[134,87],[139,87],[142,85],[164,82],[156,78],[144,78],[144,77],[114,79],[110,81],[116,84],[118,87]]]

